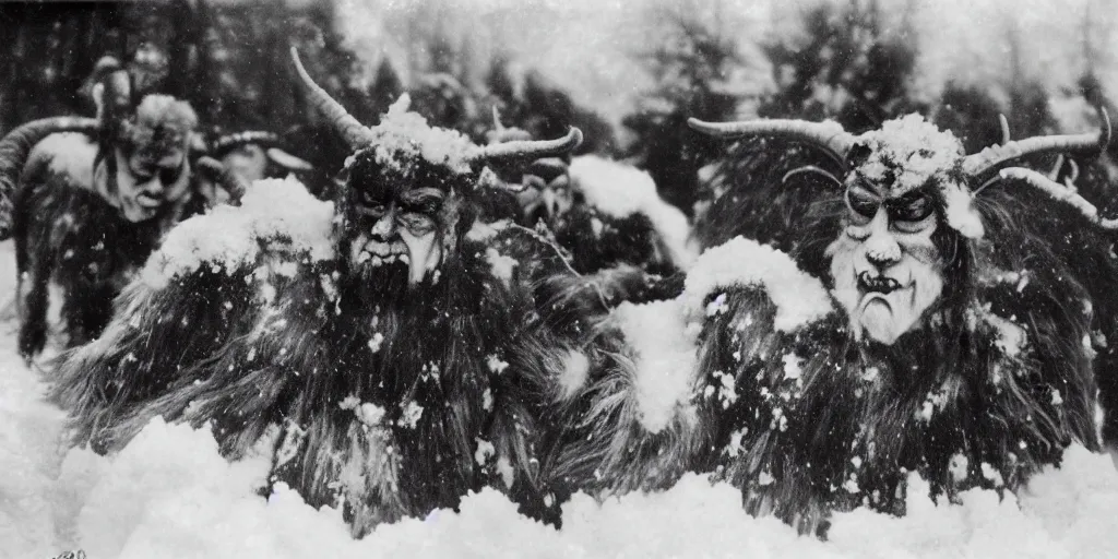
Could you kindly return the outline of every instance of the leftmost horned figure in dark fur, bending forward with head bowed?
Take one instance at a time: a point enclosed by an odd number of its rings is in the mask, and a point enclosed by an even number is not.
[[[94,88],[98,120],[36,121],[0,142],[0,192],[15,191],[19,351],[27,359],[47,339],[50,282],[61,291],[66,343],[85,343],[162,235],[207,203],[188,158],[193,110],[158,94],[129,105],[129,87],[126,72],[106,73]]]

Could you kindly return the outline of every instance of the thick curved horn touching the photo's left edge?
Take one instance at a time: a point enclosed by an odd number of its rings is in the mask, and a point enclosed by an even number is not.
[[[16,191],[19,176],[22,174],[23,165],[27,164],[27,158],[35,144],[57,132],[82,132],[95,138],[98,127],[95,119],[56,116],[18,126],[0,140],[0,240],[9,236],[10,198]]]

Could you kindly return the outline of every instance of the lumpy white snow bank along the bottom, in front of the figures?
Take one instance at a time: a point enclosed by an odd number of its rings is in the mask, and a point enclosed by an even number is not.
[[[830,541],[799,537],[773,518],[751,518],[741,494],[689,474],[675,486],[597,503],[563,504],[563,529],[534,522],[495,490],[466,495],[459,512],[379,527],[350,538],[337,510],[315,510],[280,485],[255,489],[264,457],[229,464],[205,430],[153,421],[112,458],[78,517],[88,557],[751,557],[941,558],[1106,557],[1118,549],[1118,473],[1110,458],[1072,447],[1062,470],[1048,468],[1018,500],[973,490],[961,504],[936,504],[910,479],[909,515],[870,510],[837,514]]]

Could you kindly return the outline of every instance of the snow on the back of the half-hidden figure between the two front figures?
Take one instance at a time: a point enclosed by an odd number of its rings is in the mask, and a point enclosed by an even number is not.
[[[581,155],[571,160],[570,178],[586,201],[601,212],[616,218],[647,217],[676,266],[686,268],[694,262],[686,216],[660,198],[647,172],[598,155]]]

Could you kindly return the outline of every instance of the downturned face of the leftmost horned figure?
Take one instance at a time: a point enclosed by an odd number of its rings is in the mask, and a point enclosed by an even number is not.
[[[116,202],[125,219],[133,222],[154,217],[160,209],[173,206],[190,184],[184,150],[126,155],[115,150]]]

